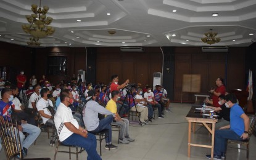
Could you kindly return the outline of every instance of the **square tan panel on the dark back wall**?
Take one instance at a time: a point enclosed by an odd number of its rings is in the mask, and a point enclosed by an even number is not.
[[[201,90],[200,74],[183,74],[182,92],[199,93]]]

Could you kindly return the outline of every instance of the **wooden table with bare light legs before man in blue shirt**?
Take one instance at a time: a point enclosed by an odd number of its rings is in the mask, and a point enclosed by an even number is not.
[[[189,122],[188,125],[188,157],[190,157],[190,149],[191,146],[199,146],[204,148],[211,148],[211,159],[213,159],[213,148],[214,148],[214,135],[215,135],[215,123],[218,121],[217,118],[210,119],[209,116],[203,116],[201,113],[195,113],[196,106],[192,106],[191,110],[186,116],[187,121]],[[209,130],[210,134],[212,134],[212,145],[201,145],[196,143],[191,143],[191,123],[192,122],[199,122],[204,124],[204,126]],[[210,128],[207,124],[212,124]]]

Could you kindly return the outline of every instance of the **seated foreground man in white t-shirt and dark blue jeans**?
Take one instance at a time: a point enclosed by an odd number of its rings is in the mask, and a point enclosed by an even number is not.
[[[80,146],[85,148],[88,156],[87,159],[100,160],[101,157],[97,154],[96,137],[87,132],[78,125],[78,122],[73,119],[72,111],[68,107],[73,102],[72,93],[68,89],[60,92],[60,105],[54,115],[56,130],[58,130],[59,140],[64,145]]]

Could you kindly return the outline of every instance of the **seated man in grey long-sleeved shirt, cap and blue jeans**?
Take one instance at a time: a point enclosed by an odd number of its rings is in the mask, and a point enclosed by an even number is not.
[[[115,114],[106,110],[99,103],[95,102],[96,100],[96,91],[89,90],[88,97],[86,98],[88,102],[85,106],[85,111],[83,111],[83,121],[85,122],[85,127],[89,132],[100,132],[101,130],[108,129],[108,138],[105,138],[105,149],[117,149],[117,146],[112,144],[112,129],[111,122],[113,121],[113,116]],[[107,115],[105,118],[99,120],[98,114]]]

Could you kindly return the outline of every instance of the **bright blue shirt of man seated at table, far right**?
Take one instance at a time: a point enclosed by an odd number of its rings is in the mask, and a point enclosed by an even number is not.
[[[230,109],[230,129],[241,136],[244,133],[244,119],[240,116],[244,114],[241,106],[234,104]]]

